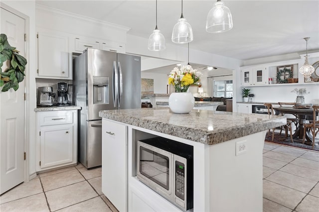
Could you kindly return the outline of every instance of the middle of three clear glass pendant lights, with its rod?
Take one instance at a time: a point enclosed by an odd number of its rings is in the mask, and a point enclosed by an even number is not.
[[[171,41],[173,43],[189,43],[193,40],[193,30],[183,16],[183,0],[181,0],[181,16],[173,27]]]

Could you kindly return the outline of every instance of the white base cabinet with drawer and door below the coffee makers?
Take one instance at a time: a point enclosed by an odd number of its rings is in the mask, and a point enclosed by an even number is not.
[[[36,171],[77,163],[77,110],[38,111]]]

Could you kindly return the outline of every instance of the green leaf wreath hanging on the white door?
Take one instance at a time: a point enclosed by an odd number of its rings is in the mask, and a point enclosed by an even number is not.
[[[2,65],[5,61],[9,61],[8,68],[2,70]],[[19,83],[24,79],[24,70],[26,59],[19,55],[19,51],[15,47],[10,46],[5,34],[0,34],[0,87],[1,92],[6,92],[10,88],[14,91],[18,90]]]

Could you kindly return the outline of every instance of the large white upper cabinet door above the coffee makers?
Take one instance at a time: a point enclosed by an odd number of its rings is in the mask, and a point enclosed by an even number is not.
[[[57,32],[38,32],[38,77],[71,79],[69,37]]]

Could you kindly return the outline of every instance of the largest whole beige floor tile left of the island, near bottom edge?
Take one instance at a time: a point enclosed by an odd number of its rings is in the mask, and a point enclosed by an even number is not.
[[[51,190],[45,194],[51,211],[63,209],[98,196],[86,181]]]

